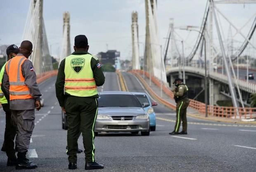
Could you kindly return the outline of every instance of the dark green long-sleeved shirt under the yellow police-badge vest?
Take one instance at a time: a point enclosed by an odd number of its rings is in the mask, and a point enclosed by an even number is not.
[[[86,51],[75,51],[72,54],[73,55],[84,55],[87,54],[88,52]],[[91,58],[90,61],[90,66],[92,68],[93,72],[93,77],[95,79],[95,84],[96,86],[102,86],[105,82],[105,76],[102,72],[102,68],[97,66],[97,64],[100,63],[99,60],[96,60],[95,58]],[[55,88],[56,88],[56,96],[59,101],[59,105],[61,107],[64,107],[64,102],[65,102],[65,95],[69,95],[68,93],[64,94],[64,84],[65,84],[65,59],[63,59],[59,65],[59,70],[58,70],[58,75],[57,75],[57,80],[55,83]],[[98,98],[99,95],[93,95],[91,97],[85,97],[85,98]]]

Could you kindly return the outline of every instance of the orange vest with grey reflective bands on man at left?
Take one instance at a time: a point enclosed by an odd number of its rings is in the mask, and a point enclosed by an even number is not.
[[[9,76],[9,93],[10,100],[30,99],[33,98],[29,93],[29,88],[25,84],[25,77],[22,74],[21,66],[27,58],[16,56],[7,62],[5,66]]]

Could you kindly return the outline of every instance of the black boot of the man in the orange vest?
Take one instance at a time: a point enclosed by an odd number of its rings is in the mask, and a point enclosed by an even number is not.
[[[35,163],[30,162],[26,158],[26,152],[18,152],[17,154],[17,165],[16,165],[16,170],[20,169],[34,169],[37,167]]]

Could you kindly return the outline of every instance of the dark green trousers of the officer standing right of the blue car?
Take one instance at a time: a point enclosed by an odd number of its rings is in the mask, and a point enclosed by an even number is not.
[[[177,102],[176,105],[176,123],[175,132],[179,132],[180,123],[182,121],[182,131],[187,132],[187,107],[189,105],[189,100],[186,98],[183,101]]]

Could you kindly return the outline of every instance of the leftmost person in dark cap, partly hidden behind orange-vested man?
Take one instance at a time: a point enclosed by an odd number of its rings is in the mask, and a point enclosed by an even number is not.
[[[12,44],[7,47],[6,54],[8,60],[15,57],[19,53],[19,48]],[[5,65],[2,66],[1,72],[0,72],[0,85],[2,85],[2,78],[5,71]],[[17,158],[15,155],[14,150],[14,138],[16,135],[16,128],[14,126],[13,120],[12,120],[12,112],[9,108],[9,100],[5,98],[4,93],[2,92],[2,89],[0,89],[0,103],[2,105],[2,109],[5,111],[5,140],[2,145],[2,151],[6,152],[6,155],[8,157],[7,159],[7,166],[13,166],[17,164]]]

